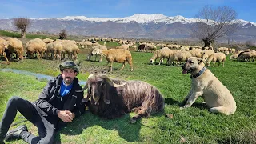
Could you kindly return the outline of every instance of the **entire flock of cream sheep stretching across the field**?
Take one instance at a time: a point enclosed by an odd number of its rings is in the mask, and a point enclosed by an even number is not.
[[[100,45],[97,41],[104,41],[103,45]],[[107,49],[106,42],[117,42],[120,46],[116,46],[114,49]],[[137,48],[138,45],[138,48]],[[16,55],[18,60],[23,60],[23,58],[49,58],[49,59],[72,59],[76,60],[78,58],[79,48],[90,48],[90,52],[87,56],[87,60],[95,55],[95,61],[98,58],[99,62],[102,62],[102,55],[106,57],[108,64],[110,63],[110,71],[112,71],[113,62],[122,63],[125,66],[125,62],[129,63],[130,70],[133,69],[132,56],[129,50],[138,50],[143,52],[154,52],[153,56],[150,58],[150,63],[154,64],[157,59],[159,60],[159,65],[161,65],[164,59],[167,59],[166,65],[174,65],[176,63],[178,66],[181,62],[186,62],[187,58],[198,57],[202,58],[202,61],[206,63],[206,66],[210,66],[211,62],[216,62],[219,64],[226,61],[226,55],[232,54],[230,59],[237,59],[238,61],[254,61],[256,58],[255,50],[244,50],[239,51],[226,47],[219,47],[216,52],[213,47],[200,47],[200,46],[181,46],[173,44],[154,44],[153,42],[132,42],[129,40],[120,39],[110,39],[110,38],[94,38],[94,39],[84,39],[82,42],[75,42],[74,40],[52,40],[50,38],[40,39],[35,38],[26,42],[26,48],[23,48],[22,41],[17,38],[0,38],[0,55],[6,58],[12,58],[13,54]],[[161,49],[157,50],[157,46]],[[25,54],[25,56],[23,56]]]

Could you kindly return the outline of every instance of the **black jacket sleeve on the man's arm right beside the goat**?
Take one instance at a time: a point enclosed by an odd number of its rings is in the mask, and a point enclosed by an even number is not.
[[[73,112],[74,112],[75,118],[78,118],[79,116],[85,113],[86,105],[82,102],[83,92],[80,92],[80,93],[76,92],[76,95],[77,95],[76,105],[74,106]]]

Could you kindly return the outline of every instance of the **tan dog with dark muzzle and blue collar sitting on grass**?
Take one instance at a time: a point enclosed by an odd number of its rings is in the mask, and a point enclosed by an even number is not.
[[[188,58],[182,69],[183,74],[191,74],[192,82],[190,93],[183,100],[181,109],[190,107],[199,96],[202,96],[206,105],[210,107],[210,112],[234,114],[237,106],[230,90],[206,69],[201,58]]]

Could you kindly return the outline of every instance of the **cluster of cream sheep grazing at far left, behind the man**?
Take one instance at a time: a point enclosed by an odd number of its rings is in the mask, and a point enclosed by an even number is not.
[[[75,41],[70,40],[52,40],[49,38],[35,38],[26,42],[25,48],[22,41],[17,38],[0,38],[0,55],[6,58],[6,62],[10,63],[8,58],[12,58],[16,54],[18,60],[23,58],[52,58],[52,59],[73,59],[78,58],[79,48]],[[23,56],[25,54],[25,56]]]

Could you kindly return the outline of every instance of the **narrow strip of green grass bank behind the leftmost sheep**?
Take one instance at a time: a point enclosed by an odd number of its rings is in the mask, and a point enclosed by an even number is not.
[[[6,30],[0,30],[0,35],[1,35],[1,36],[6,36],[6,37],[21,38],[20,32],[17,33],[17,32],[9,32],[9,31],[6,31]],[[47,36],[47,35],[43,35],[43,34],[26,34],[26,38],[29,38],[29,39],[34,39],[34,38],[41,38],[41,39],[44,39],[44,38],[51,38],[51,39],[57,39],[58,37],[56,37],[56,36]]]

